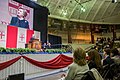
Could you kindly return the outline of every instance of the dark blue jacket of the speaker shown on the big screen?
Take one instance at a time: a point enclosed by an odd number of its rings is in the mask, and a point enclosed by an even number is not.
[[[10,25],[29,29],[29,23],[27,20],[19,20],[18,17],[12,17]]]

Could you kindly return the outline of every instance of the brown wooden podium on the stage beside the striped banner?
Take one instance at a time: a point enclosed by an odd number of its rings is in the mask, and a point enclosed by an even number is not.
[[[28,43],[27,48],[41,50],[41,42],[39,41],[39,39],[34,39],[32,40],[32,42]]]

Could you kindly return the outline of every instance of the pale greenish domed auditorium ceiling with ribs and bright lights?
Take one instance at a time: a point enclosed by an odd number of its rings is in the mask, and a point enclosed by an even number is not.
[[[117,2],[115,2],[117,1]],[[120,24],[120,0],[38,0],[49,17],[68,21]]]

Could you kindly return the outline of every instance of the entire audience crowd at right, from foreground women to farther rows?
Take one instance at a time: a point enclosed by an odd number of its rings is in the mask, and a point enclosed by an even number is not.
[[[99,43],[104,44],[104,40],[100,39]],[[111,46],[111,40],[108,38],[106,44],[102,45],[102,51],[101,55],[97,47],[91,48],[87,53],[81,48],[74,50],[73,63],[68,67],[67,73],[62,75],[61,80],[86,80],[83,79],[84,74],[93,69],[98,71],[98,76],[95,76],[95,71],[93,71],[95,80],[119,80],[120,52],[118,48]]]

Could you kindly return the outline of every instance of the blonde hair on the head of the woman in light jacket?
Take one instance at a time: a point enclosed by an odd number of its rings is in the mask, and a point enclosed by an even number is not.
[[[80,66],[84,66],[86,65],[86,53],[83,49],[81,48],[77,48],[75,49],[74,51],[74,54],[73,54],[73,61],[80,65]]]

